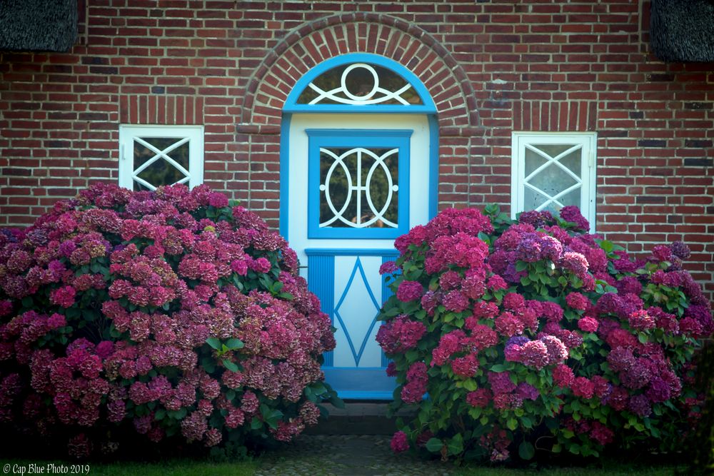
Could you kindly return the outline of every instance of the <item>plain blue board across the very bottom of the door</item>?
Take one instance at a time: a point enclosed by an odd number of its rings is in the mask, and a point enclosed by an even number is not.
[[[341,398],[393,399],[396,379],[389,377],[383,368],[323,367],[322,370],[325,381],[337,390]]]

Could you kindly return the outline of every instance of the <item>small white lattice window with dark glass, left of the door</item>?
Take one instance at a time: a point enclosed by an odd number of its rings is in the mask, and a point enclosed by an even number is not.
[[[119,186],[203,183],[203,126],[119,126]]]

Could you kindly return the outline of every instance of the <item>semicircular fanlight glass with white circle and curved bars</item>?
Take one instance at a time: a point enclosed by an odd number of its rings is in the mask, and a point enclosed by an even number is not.
[[[298,104],[422,104],[416,90],[393,71],[376,64],[346,64],[318,76]]]

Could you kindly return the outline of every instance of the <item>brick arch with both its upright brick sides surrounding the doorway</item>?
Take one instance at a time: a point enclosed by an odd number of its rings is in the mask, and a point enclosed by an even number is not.
[[[247,199],[277,227],[279,151],[283,104],[301,77],[326,59],[348,53],[372,53],[397,61],[426,86],[436,103],[439,128],[438,206],[475,203],[474,186],[483,177],[473,170],[483,158],[486,129],[481,125],[476,93],[463,66],[434,36],[394,16],[346,13],[326,16],[288,32],[264,57],[248,83],[238,116],[236,151],[247,158],[242,175]],[[473,198],[472,198],[473,196]]]

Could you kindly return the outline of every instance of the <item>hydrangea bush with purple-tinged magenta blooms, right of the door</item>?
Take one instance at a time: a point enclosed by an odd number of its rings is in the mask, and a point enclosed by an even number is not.
[[[714,330],[683,243],[632,260],[560,218],[446,210],[396,240],[394,295],[377,340],[393,362],[392,410],[417,405],[392,447],[442,457],[531,459],[670,450],[698,417],[691,360]],[[489,218],[490,217],[490,218]],[[538,445],[535,445],[538,440]]]

